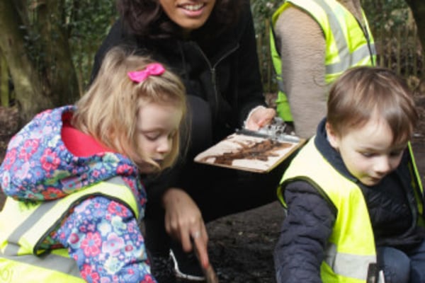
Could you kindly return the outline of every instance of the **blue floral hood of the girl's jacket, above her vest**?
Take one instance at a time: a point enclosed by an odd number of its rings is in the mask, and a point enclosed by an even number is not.
[[[61,135],[63,120],[74,109],[68,105],[45,110],[11,139],[0,166],[1,189],[16,200],[55,200],[120,175],[143,205],[145,189],[130,159],[108,151],[74,156],[67,149]]]

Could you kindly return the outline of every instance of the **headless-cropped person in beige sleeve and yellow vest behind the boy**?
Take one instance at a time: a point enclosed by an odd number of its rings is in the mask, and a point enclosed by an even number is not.
[[[285,0],[273,13],[276,36],[270,47],[279,82],[276,110],[283,120],[293,122],[298,137],[315,134],[336,78],[351,67],[375,65],[375,42],[361,4]]]

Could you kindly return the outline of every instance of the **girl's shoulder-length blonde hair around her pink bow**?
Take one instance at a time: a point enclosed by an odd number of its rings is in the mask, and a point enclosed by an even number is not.
[[[183,112],[181,126],[186,114],[186,90],[179,77],[167,69],[163,74],[149,76],[140,83],[129,78],[129,71],[140,71],[151,63],[151,59],[120,47],[111,49],[89,90],[77,102],[72,125],[109,149],[128,156],[137,166],[150,163],[161,170],[171,166],[179,156],[179,133],[173,139],[170,154],[159,168],[137,142],[138,110],[152,102],[173,105]]]

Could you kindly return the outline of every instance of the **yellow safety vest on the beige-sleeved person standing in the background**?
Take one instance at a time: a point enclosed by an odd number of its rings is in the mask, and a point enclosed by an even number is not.
[[[374,65],[376,57],[375,43],[363,11],[365,27],[362,27],[353,14],[336,0],[285,0],[285,3],[273,13],[270,29],[271,57],[279,88],[276,110],[285,121],[293,121],[293,117],[283,88],[282,62],[276,48],[273,27],[280,13],[291,5],[309,13],[322,28],[327,45],[324,62],[326,83],[332,83],[350,67]]]

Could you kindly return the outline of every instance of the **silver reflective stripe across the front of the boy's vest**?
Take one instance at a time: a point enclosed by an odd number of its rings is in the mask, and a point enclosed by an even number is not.
[[[324,261],[337,275],[365,280],[370,262],[376,262],[375,255],[354,255],[338,253],[336,245],[328,243]]]

